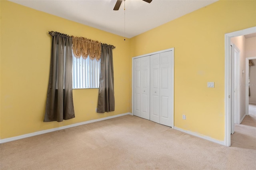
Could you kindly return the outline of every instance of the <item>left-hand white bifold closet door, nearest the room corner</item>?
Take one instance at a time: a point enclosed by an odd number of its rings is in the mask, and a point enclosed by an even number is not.
[[[150,56],[134,59],[134,115],[150,119]]]

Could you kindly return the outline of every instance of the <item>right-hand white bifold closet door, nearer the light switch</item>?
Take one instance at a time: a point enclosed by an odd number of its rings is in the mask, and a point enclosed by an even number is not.
[[[150,56],[150,120],[166,126],[173,122],[172,62],[171,51]]]

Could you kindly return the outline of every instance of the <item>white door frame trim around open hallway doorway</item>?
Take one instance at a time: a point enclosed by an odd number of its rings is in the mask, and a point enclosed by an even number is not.
[[[224,105],[225,105],[225,137],[224,137],[224,145],[231,145],[231,120],[230,120],[230,111],[231,111],[231,99],[229,98],[231,95],[231,87],[230,87],[230,38],[236,36],[243,36],[246,34],[252,34],[256,32],[256,26],[252,28],[247,28],[244,30],[239,30],[236,32],[231,32],[225,34],[225,97],[224,97]]]

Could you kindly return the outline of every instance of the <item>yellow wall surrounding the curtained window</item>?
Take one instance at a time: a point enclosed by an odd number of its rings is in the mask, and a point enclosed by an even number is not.
[[[0,4],[1,139],[131,111],[129,39],[124,41],[120,36],[12,2],[1,0]],[[116,46],[113,50],[114,112],[95,112],[98,89],[76,89],[73,90],[76,118],[43,123],[52,39],[48,31]]]

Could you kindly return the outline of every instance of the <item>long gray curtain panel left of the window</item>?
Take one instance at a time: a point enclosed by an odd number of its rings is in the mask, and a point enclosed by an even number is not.
[[[72,94],[72,37],[58,32],[52,36],[50,77],[44,122],[75,117]]]

